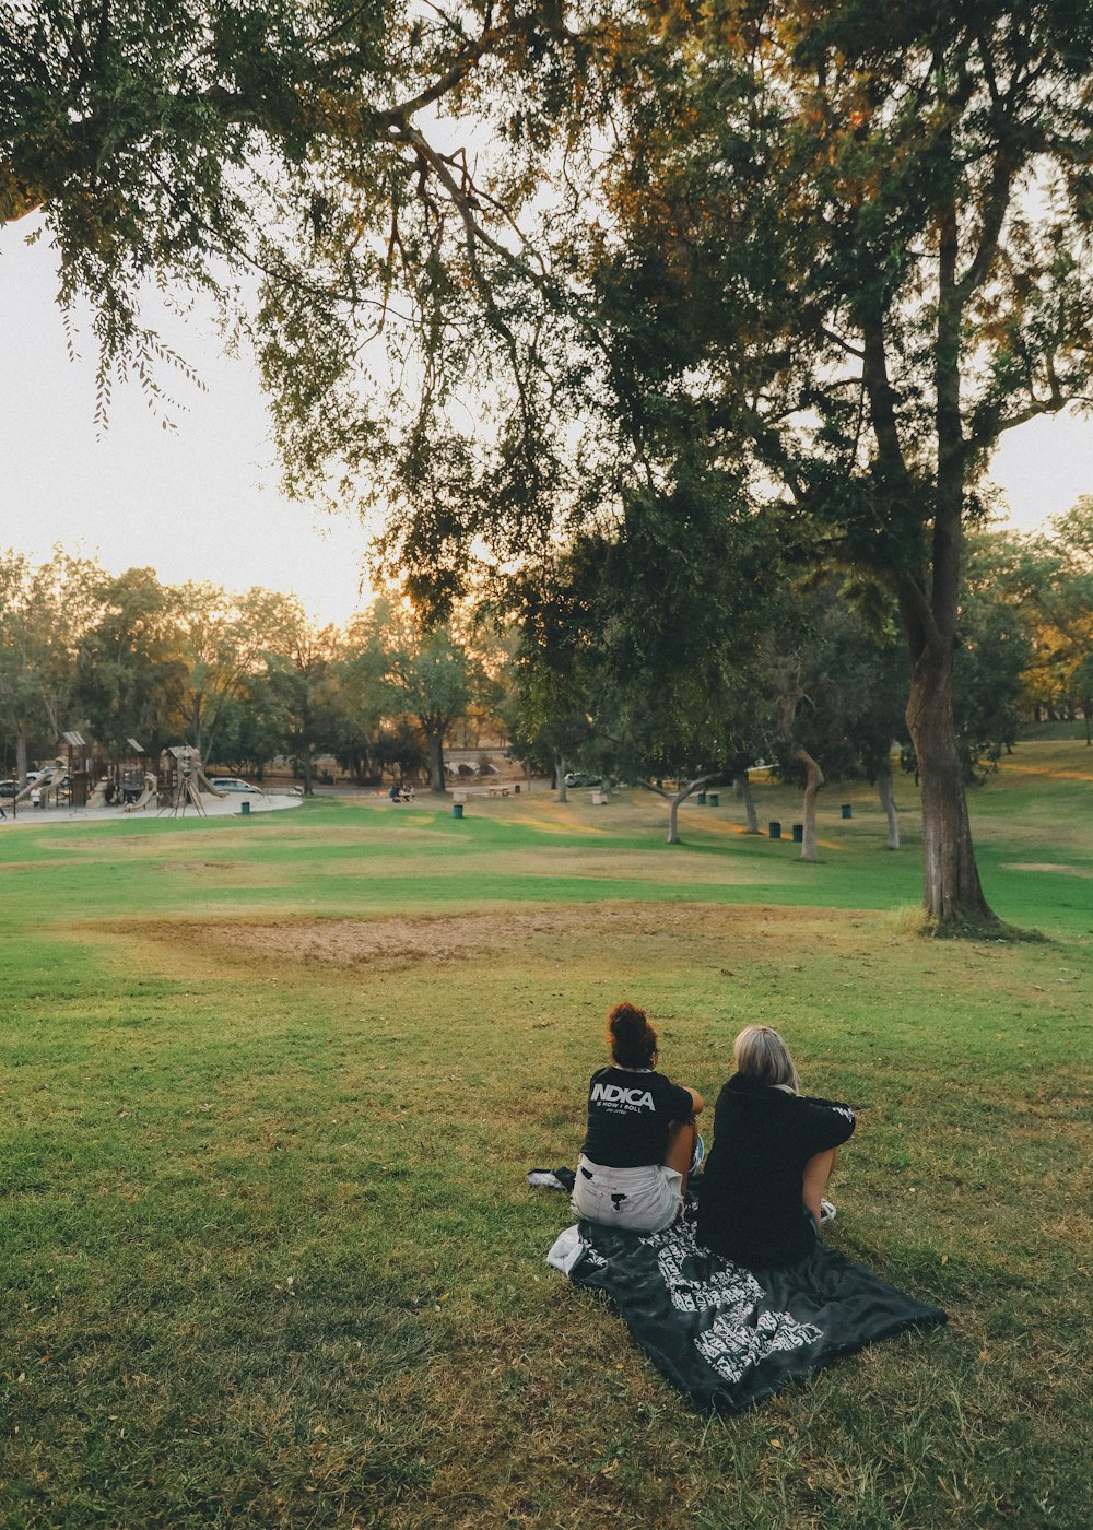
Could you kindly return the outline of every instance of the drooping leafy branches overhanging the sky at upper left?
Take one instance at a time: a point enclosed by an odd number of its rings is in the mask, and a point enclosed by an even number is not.
[[[452,389],[484,384],[496,438],[533,409],[511,211],[553,127],[520,93],[576,41],[531,0],[0,0],[0,222],[38,211],[90,304],[103,415],[116,370],[156,390],[179,361],[147,288],[205,291],[254,340],[289,485],[459,499]]]

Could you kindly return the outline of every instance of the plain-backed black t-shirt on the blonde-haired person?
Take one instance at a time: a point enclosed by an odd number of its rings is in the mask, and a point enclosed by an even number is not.
[[[814,1242],[801,1190],[810,1158],[845,1143],[854,1112],[735,1074],[718,1095],[698,1238],[739,1264],[791,1264]]]

